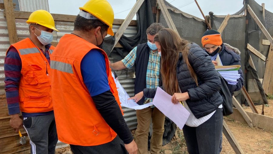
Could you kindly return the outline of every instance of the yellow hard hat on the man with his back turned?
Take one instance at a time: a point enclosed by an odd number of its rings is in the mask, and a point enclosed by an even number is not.
[[[104,22],[109,26],[107,34],[114,35],[112,27],[114,22],[114,11],[109,2],[106,0],[89,0],[79,8],[80,10],[86,11],[100,21]]]

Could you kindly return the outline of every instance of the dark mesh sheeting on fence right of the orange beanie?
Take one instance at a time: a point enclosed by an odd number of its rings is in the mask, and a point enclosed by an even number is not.
[[[247,5],[250,5],[254,13],[257,15],[259,20],[262,24],[265,25],[266,29],[268,30],[269,34],[273,34],[273,14],[267,10],[265,10],[265,20],[262,16],[262,7],[256,3],[254,0],[246,0],[244,7],[236,12],[235,14],[242,14],[243,10],[247,8]],[[220,27],[221,23],[223,22],[224,18],[218,18],[215,15],[211,16],[212,21],[212,29],[217,30]],[[248,21],[246,21],[248,20]],[[248,24],[246,24],[248,23]],[[242,17],[231,17],[228,20],[228,24],[225,27],[222,33],[222,40],[224,43],[228,43],[233,47],[238,48],[241,51],[241,67],[244,72],[244,86],[248,89],[248,92],[260,92],[261,98],[260,101],[254,102],[257,104],[265,103],[267,104],[268,101],[266,99],[266,95],[262,88],[261,82],[259,79],[263,78],[265,72],[265,61],[260,59],[258,56],[254,55],[250,52],[246,46],[249,43],[252,47],[256,50],[261,52],[264,56],[268,55],[269,46],[262,45],[262,40],[267,40],[261,29],[258,27],[254,19],[251,15],[247,12],[247,16]],[[249,55],[251,55],[252,60],[254,62],[254,66],[257,71],[254,70],[249,65]],[[246,70],[246,71],[244,71]],[[248,83],[251,82],[251,85],[248,86]],[[254,82],[254,83],[253,83]],[[257,84],[257,89],[253,84]],[[247,102],[244,99],[244,96],[240,91],[235,93],[237,100],[241,104]]]

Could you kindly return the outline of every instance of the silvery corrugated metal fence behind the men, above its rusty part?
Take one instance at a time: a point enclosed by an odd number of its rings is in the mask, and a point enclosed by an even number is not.
[[[16,22],[16,29],[18,37],[29,37],[29,30],[28,24],[25,22],[25,19],[15,19]],[[113,25],[113,31],[116,32],[120,25]],[[56,21],[56,28],[60,32],[54,31],[53,33],[53,41],[58,42],[59,39],[64,34],[69,34],[72,32],[74,28],[73,22],[63,22],[63,21]],[[127,37],[136,35],[136,26],[128,26],[124,32],[124,35]],[[4,91],[4,59],[5,59],[5,52],[9,47],[9,38],[8,38],[8,30],[7,30],[7,22],[3,16],[3,12],[0,12],[0,95],[5,94]],[[113,59],[110,59],[113,62]],[[132,74],[129,75],[124,71],[117,71],[120,84],[124,87],[124,89],[128,92],[130,96],[134,95],[134,79],[132,79]],[[131,130],[136,128],[136,116],[135,110],[123,108],[125,114],[125,120],[130,127]]]

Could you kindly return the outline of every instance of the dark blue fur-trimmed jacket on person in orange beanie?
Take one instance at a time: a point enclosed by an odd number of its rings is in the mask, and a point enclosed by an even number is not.
[[[241,63],[240,63],[241,52],[239,51],[239,49],[234,48],[226,43],[223,43],[221,45],[221,47],[222,47],[222,49],[219,52],[219,56],[220,56],[221,62],[224,66],[241,65]],[[203,49],[203,50],[206,51],[205,49]],[[238,70],[238,73],[240,74],[240,78],[237,79],[238,83],[236,85],[227,84],[227,87],[228,87],[231,95],[233,95],[234,91],[240,90],[242,88],[242,86],[244,85],[244,74],[243,74],[241,68]]]

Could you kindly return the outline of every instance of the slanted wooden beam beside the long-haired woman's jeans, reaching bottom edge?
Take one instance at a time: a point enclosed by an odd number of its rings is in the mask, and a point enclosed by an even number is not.
[[[236,140],[235,136],[231,132],[231,130],[228,128],[226,122],[223,120],[223,133],[227,138],[227,141],[231,145],[232,149],[236,154],[244,154],[243,149],[241,148],[240,144]]]

